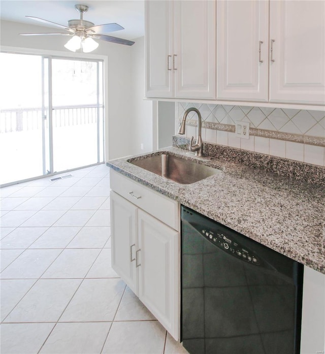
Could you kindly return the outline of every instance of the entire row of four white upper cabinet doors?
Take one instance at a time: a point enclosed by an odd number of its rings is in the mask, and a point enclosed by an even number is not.
[[[148,98],[325,104],[325,0],[147,0],[145,35]]]

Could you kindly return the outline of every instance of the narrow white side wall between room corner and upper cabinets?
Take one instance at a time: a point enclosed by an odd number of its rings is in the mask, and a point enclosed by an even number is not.
[[[135,39],[131,47],[131,112],[130,125],[132,154],[153,150],[152,101],[145,98],[144,37]],[[143,149],[141,149],[143,144]]]

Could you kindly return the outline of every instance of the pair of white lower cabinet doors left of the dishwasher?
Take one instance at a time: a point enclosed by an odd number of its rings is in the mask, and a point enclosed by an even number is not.
[[[110,196],[112,268],[178,340],[179,232],[113,190]]]

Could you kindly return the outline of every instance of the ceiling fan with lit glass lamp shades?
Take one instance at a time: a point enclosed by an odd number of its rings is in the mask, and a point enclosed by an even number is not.
[[[98,47],[98,43],[93,40],[100,39],[107,42],[113,42],[118,44],[125,44],[127,46],[132,46],[135,42],[128,41],[122,38],[107,36],[105,33],[110,33],[114,31],[118,31],[124,29],[124,27],[120,26],[117,23],[106,23],[94,25],[94,23],[90,21],[85,21],[83,19],[84,12],[88,11],[87,5],[75,5],[75,9],[80,13],[79,20],[69,20],[68,26],[64,26],[59,23],[55,23],[52,21],[44,20],[39,17],[26,16],[36,21],[51,23],[56,27],[63,28],[68,31],[68,33],[20,33],[22,36],[53,36],[53,35],[61,35],[61,36],[73,36],[67,43],[64,45],[67,49],[75,52],[78,49],[82,49],[83,52],[88,53],[93,51]]]

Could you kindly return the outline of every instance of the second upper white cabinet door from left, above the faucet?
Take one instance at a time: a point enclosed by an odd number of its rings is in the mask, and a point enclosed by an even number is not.
[[[215,3],[175,2],[176,98],[216,98]]]

